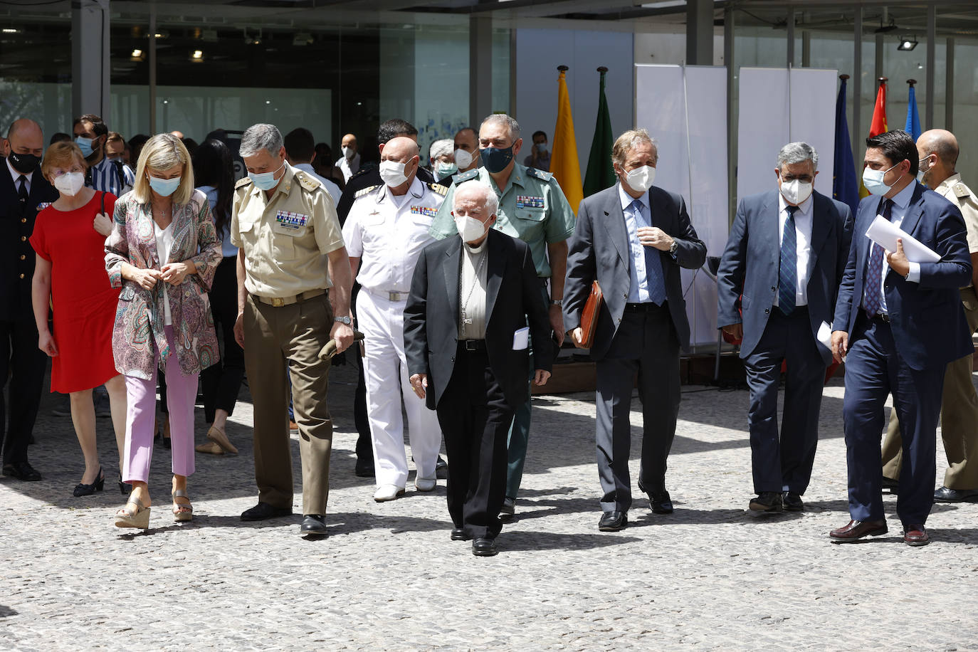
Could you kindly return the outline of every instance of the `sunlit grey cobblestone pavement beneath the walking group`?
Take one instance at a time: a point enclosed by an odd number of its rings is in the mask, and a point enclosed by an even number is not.
[[[30,449],[44,480],[0,479],[0,648],[978,649],[978,504],[936,505],[934,543],[911,548],[887,497],[888,536],[828,542],[849,519],[840,381],[825,389],[805,512],[747,510],[747,394],[686,387],[668,475],[676,512],[636,500],[621,533],[597,529],[593,395],[540,397],[518,518],[501,553],[480,558],[449,540],[443,482],[372,500],[373,482],[353,475],[355,374],[332,379],[331,534],[318,541],[298,536],[299,516],[239,520],[256,496],[246,389],[228,428],[241,454],[198,456],[192,523],[170,517],[168,452],[156,448],[146,534],[112,527],[122,497],[109,419],[106,491],[71,497],[81,455],[46,397]],[[199,442],[204,432],[199,410]],[[943,456],[939,445],[939,479]]]

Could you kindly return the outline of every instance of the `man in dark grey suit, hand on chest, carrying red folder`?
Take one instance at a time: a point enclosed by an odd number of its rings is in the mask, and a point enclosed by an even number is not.
[[[628,524],[628,456],[633,378],[643,409],[639,490],[652,511],[673,510],[666,458],[679,414],[679,350],[689,350],[680,268],[697,269],[706,245],[696,237],[682,196],[655,188],[658,150],[645,129],[626,131],[611,150],[619,183],[581,202],[567,255],[564,324],[581,346],[581,312],[598,281],[604,293],[591,358],[597,363],[598,529]]]

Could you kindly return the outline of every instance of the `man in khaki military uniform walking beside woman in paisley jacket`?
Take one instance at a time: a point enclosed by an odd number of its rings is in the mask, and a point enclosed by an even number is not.
[[[353,341],[349,256],[333,197],[286,162],[282,134],[248,127],[240,152],[248,176],[235,187],[231,241],[238,252],[238,321],[254,405],[254,475],[258,504],[244,521],[292,513],[292,462],[286,364],[302,456],[303,535],[325,535],[333,421],[326,400],[330,340]]]

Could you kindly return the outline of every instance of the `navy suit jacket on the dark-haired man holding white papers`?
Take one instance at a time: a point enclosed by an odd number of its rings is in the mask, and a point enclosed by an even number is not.
[[[883,283],[897,353],[911,369],[931,369],[974,352],[958,288],[971,282],[971,258],[964,218],[956,205],[913,182],[913,196],[900,228],[936,251],[941,260],[920,263],[920,283],[889,271]],[[853,336],[863,303],[869,255],[869,224],[881,212],[882,197],[867,196],[856,211],[856,227],[839,298],[836,330]],[[852,339],[850,339],[852,346]]]

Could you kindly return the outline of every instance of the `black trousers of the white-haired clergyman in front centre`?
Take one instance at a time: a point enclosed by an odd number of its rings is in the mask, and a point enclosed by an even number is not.
[[[452,524],[472,539],[494,539],[503,529],[499,510],[506,498],[506,440],[513,409],[485,349],[459,346],[437,413],[452,460],[447,487]]]

